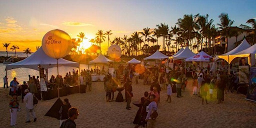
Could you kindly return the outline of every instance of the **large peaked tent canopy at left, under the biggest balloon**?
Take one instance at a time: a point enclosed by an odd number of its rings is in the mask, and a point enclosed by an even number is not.
[[[7,64],[6,70],[19,68],[19,67],[25,67],[25,68],[39,70],[38,65],[40,65],[40,67],[43,67],[45,69],[55,67],[55,66],[57,66],[57,59],[46,55],[44,53],[44,51],[42,50],[42,47],[40,47],[29,57],[27,57],[21,61],[15,62],[15,63]],[[71,67],[79,68],[79,63],[69,61],[69,60],[66,60],[63,58],[59,58],[58,66],[71,66]]]

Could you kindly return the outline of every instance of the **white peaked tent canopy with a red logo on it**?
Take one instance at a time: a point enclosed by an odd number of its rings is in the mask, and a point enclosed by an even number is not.
[[[209,62],[210,58],[212,58],[212,56],[208,55],[204,51],[201,51],[189,58],[186,58],[185,60],[186,61],[197,61],[197,62]]]

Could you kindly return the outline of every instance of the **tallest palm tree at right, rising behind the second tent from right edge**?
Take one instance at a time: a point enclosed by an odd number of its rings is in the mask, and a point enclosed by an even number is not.
[[[227,13],[221,13],[219,16],[220,18],[220,23],[217,23],[220,28],[220,34],[224,35],[226,39],[226,47],[225,47],[225,52],[227,52],[227,47],[228,47],[228,33],[229,33],[229,28],[233,24],[234,20],[229,19]]]

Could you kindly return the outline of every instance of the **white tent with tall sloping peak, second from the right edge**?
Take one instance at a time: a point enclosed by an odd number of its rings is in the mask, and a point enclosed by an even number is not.
[[[236,46],[234,49],[232,49],[232,50],[230,50],[230,51],[228,51],[228,52],[226,52],[224,54],[217,55],[217,57],[215,58],[215,61],[218,60],[219,58],[222,58],[222,59],[226,60],[230,64],[232,60],[229,59],[229,57],[228,57],[229,55],[235,54],[235,53],[237,53],[239,51],[242,51],[242,50],[244,50],[244,49],[246,49],[248,47],[250,47],[250,44],[244,38],[242,40],[242,42],[238,46]]]

